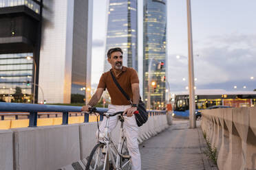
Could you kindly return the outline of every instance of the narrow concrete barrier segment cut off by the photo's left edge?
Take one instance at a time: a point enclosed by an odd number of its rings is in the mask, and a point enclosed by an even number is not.
[[[12,131],[0,130],[0,169],[13,169]]]

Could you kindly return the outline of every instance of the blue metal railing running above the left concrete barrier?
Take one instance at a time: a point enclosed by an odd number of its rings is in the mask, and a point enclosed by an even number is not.
[[[29,126],[37,126],[37,117],[38,112],[62,112],[62,125],[68,124],[69,112],[81,112],[81,106],[56,106],[56,105],[42,105],[42,104],[14,104],[14,103],[5,103],[0,102],[0,113],[1,112],[10,112],[4,113],[5,115],[15,115],[16,119],[21,112],[29,112]],[[107,108],[97,108],[99,112],[107,112]],[[150,116],[156,116],[160,114],[166,114],[165,110],[148,110]],[[89,114],[84,114],[84,122],[89,122]],[[2,118],[3,120],[3,118]],[[103,117],[100,116],[100,121],[103,120]]]

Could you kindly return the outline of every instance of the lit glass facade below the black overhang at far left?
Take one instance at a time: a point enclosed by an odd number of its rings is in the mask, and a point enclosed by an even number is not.
[[[26,57],[32,55],[32,53],[0,54],[1,101],[14,101],[14,93],[17,93],[18,88],[23,95],[23,101],[29,102],[32,95],[33,60],[28,60]]]

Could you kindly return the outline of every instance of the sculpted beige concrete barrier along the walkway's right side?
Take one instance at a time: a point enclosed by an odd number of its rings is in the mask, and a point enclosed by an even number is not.
[[[202,111],[202,130],[222,169],[256,169],[256,107]]]

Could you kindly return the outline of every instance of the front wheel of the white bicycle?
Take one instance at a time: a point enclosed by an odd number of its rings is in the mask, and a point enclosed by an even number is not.
[[[105,147],[105,144],[103,143],[98,143],[97,145],[95,145],[94,149],[92,149],[92,152],[89,155],[85,170],[91,170],[91,169],[102,170],[103,169],[105,156],[107,155],[103,153],[103,147]]]

